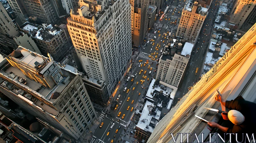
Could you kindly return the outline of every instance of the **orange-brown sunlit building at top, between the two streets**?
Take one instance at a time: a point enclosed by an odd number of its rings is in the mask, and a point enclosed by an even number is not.
[[[196,42],[206,16],[207,8],[198,5],[197,2],[193,4],[189,1],[182,10],[176,37],[183,38],[191,43]]]

